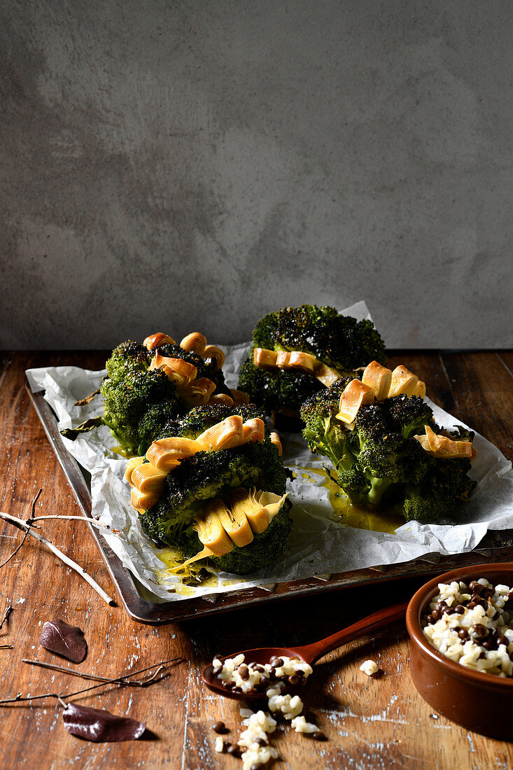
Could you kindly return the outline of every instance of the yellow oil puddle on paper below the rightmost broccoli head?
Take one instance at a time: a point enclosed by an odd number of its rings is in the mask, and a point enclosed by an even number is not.
[[[347,527],[356,527],[371,532],[387,532],[394,534],[397,527],[404,524],[404,516],[394,511],[393,508],[371,508],[351,503],[347,494],[330,479],[324,468],[308,468],[311,473],[324,477],[323,487],[330,493],[330,505],[335,516]],[[301,474],[304,479],[310,478],[307,473]],[[313,480],[312,480],[313,481]]]

